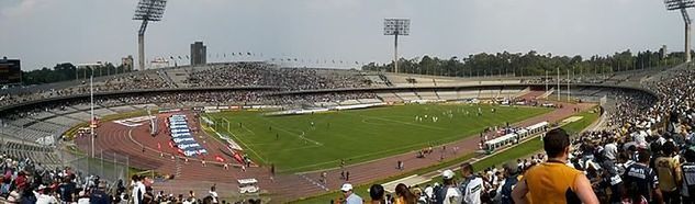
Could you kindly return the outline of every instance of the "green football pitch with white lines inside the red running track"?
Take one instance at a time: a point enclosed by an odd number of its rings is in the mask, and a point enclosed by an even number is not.
[[[482,115],[478,111],[482,110]],[[495,112],[492,112],[492,109]],[[214,129],[231,136],[256,162],[279,172],[338,167],[422,149],[550,112],[527,106],[408,104],[305,115],[258,111],[210,113]],[[214,135],[214,134],[212,134]]]

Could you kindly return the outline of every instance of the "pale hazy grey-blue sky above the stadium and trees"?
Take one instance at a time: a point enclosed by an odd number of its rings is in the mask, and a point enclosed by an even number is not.
[[[0,56],[22,69],[137,56],[137,0],[0,0]],[[411,19],[399,55],[608,55],[683,49],[683,20],[661,0],[169,0],[145,35],[147,61],[184,56],[203,41],[210,61],[299,58],[388,63],[383,19]],[[260,56],[262,54],[262,57]],[[220,55],[220,57],[216,57]],[[137,61],[137,59],[136,59]],[[334,65],[317,65],[330,67]],[[336,66],[337,67],[337,66]]]

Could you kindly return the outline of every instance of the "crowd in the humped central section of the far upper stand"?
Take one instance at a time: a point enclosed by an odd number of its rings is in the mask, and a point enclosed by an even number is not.
[[[195,70],[186,83],[191,87],[272,86],[288,90],[369,87],[357,71],[277,68],[265,63],[239,63]]]

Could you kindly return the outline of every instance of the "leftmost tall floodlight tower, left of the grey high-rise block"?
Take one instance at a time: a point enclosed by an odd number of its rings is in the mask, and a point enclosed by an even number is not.
[[[139,0],[133,20],[143,21],[137,31],[137,56],[139,69],[145,70],[145,30],[150,21],[161,21],[167,0]]]

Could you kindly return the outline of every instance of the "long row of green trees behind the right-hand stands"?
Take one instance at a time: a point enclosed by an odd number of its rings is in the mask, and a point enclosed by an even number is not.
[[[603,75],[636,69],[663,68],[683,63],[684,53],[663,54],[659,52],[638,52],[630,49],[606,56],[553,56],[530,50],[522,53],[480,53],[464,58],[450,57],[448,59],[423,56],[412,59],[399,59],[399,72],[434,75],[449,77],[484,77],[484,76],[543,76],[567,75]],[[370,63],[362,66],[362,70],[393,72],[393,61],[390,64]]]

